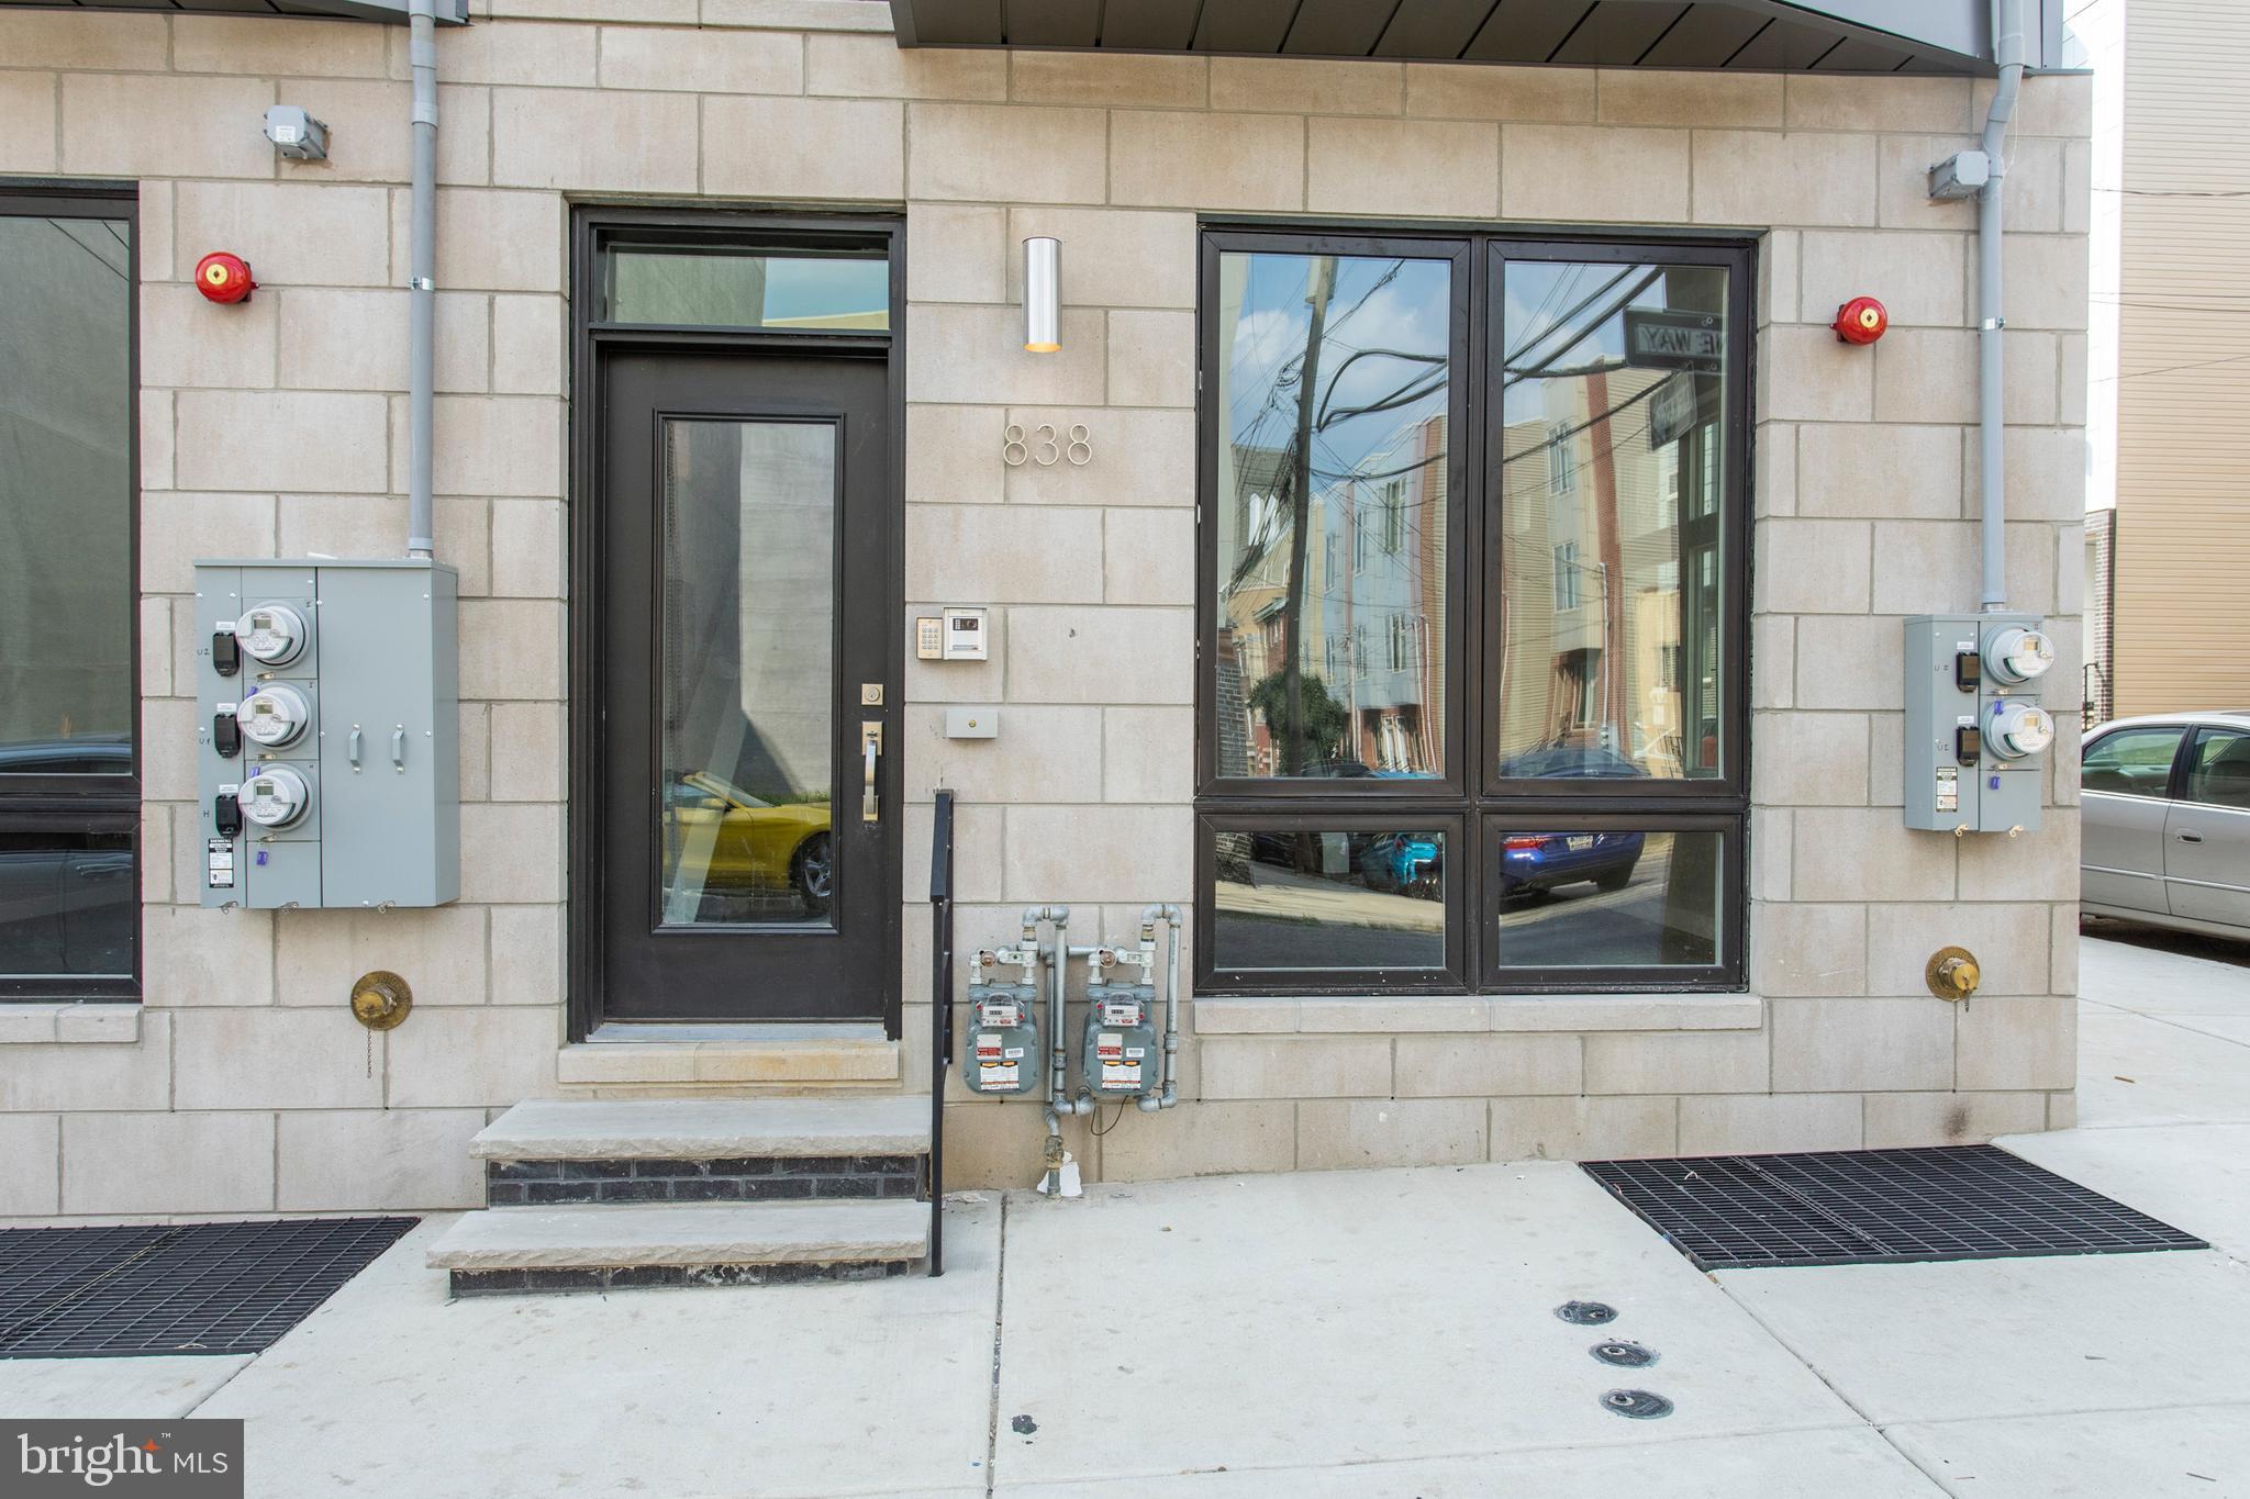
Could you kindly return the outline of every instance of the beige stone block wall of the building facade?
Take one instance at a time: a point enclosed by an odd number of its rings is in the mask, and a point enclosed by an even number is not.
[[[900,52],[871,0],[488,0],[439,40],[439,553],[464,578],[464,901],[205,912],[198,555],[389,553],[405,526],[405,38],[358,22],[0,16],[0,169],[142,184],[146,1007],[65,1041],[0,1016],[4,1214],[452,1207],[459,1142],[556,1081],[565,1038],[567,202],[902,209],[907,609],[990,605],[992,661],[907,663],[900,1085],[929,1045],[927,791],[963,793],[961,948],[1069,901],[1130,939],[1192,899],[1199,214],[1573,220],[1762,238],[1750,827],[1753,998],[1206,1000],[1184,1103],[1089,1175],[1924,1144],[2068,1121],[2070,757],[2020,841],[1897,825],[1897,618],[1976,602],[1969,218],[1924,166],[1984,92],[1924,79]],[[700,22],[702,29],[688,29]],[[130,103],[142,130],[117,130]],[[335,126],[277,162],[272,101]],[[2009,193],[2014,602],[2077,614],[2084,79],[2034,79]],[[2077,162],[2077,171],[2072,164]],[[1017,353],[1015,243],[1064,240],[1064,353]],[[191,297],[245,254],[248,308]],[[1872,351],[1825,321],[1897,319]],[[1010,423],[1094,461],[1006,467]],[[1010,548],[1006,560],[997,548]],[[2074,641],[2074,629],[2061,629]],[[911,652],[909,652],[911,656]],[[2074,728],[2072,661],[2050,706]],[[950,742],[945,703],[1001,708]],[[2063,744],[2074,744],[2066,733]],[[1987,960],[1966,1009],[1926,953]],[[369,1041],[344,987],[392,966]],[[965,973],[963,973],[965,978]],[[862,1088],[866,1083],[860,1083]],[[1040,1112],[965,1099],[956,1182],[1024,1182]]]

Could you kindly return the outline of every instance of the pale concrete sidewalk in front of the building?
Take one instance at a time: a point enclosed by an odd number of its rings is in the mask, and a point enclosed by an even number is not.
[[[256,1360],[0,1362],[0,1414],[241,1416],[292,1499],[2250,1499],[2250,971],[2086,942],[2084,989],[2081,1126],[2005,1144],[2212,1252],[1706,1277],[1541,1162],[994,1196],[938,1281],[448,1301],[432,1220]]]

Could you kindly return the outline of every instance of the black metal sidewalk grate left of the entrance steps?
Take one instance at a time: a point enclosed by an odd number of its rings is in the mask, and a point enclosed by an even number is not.
[[[0,1357],[261,1353],[414,1223],[0,1229]]]

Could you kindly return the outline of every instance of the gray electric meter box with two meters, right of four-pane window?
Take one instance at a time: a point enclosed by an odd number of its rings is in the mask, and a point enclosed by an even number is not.
[[[2038,827],[2054,719],[2054,645],[2034,614],[1906,620],[1906,825],[1962,834]]]

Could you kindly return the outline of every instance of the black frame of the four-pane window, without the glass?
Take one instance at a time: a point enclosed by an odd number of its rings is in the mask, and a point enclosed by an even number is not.
[[[1222,360],[1220,263],[1226,254],[1406,256],[1454,267],[1449,288],[1456,431],[1447,454],[1444,766],[1433,778],[1222,778],[1217,773],[1217,467],[1226,434],[1213,411]],[[1501,344],[1508,261],[1710,265],[1728,276],[1726,335],[1737,351],[1721,414],[1719,773],[1696,780],[1505,780],[1487,766],[1498,744],[1501,458],[1490,440],[1490,355]],[[1757,238],[1658,231],[1505,231],[1467,225],[1298,225],[1206,220],[1197,247],[1197,670],[1195,670],[1195,991],[1210,996],[1350,993],[1739,993],[1748,987],[1750,816],[1750,526],[1753,393],[1757,389]],[[1685,528],[1688,517],[1681,517]],[[1683,555],[1685,564],[1685,555]],[[1474,643],[1474,652],[1472,652]],[[1474,661],[1472,661],[1474,654]],[[1503,969],[1498,879],[1487,838],[1505,823],[1541,832],[1719,832],[1719,951],[1699,966]],[[1235,829],[1444,829],[1447,969],[1220,969],[1215,962],[1215,841]],[[1494,845],[1496,847],[1496,845]]]

